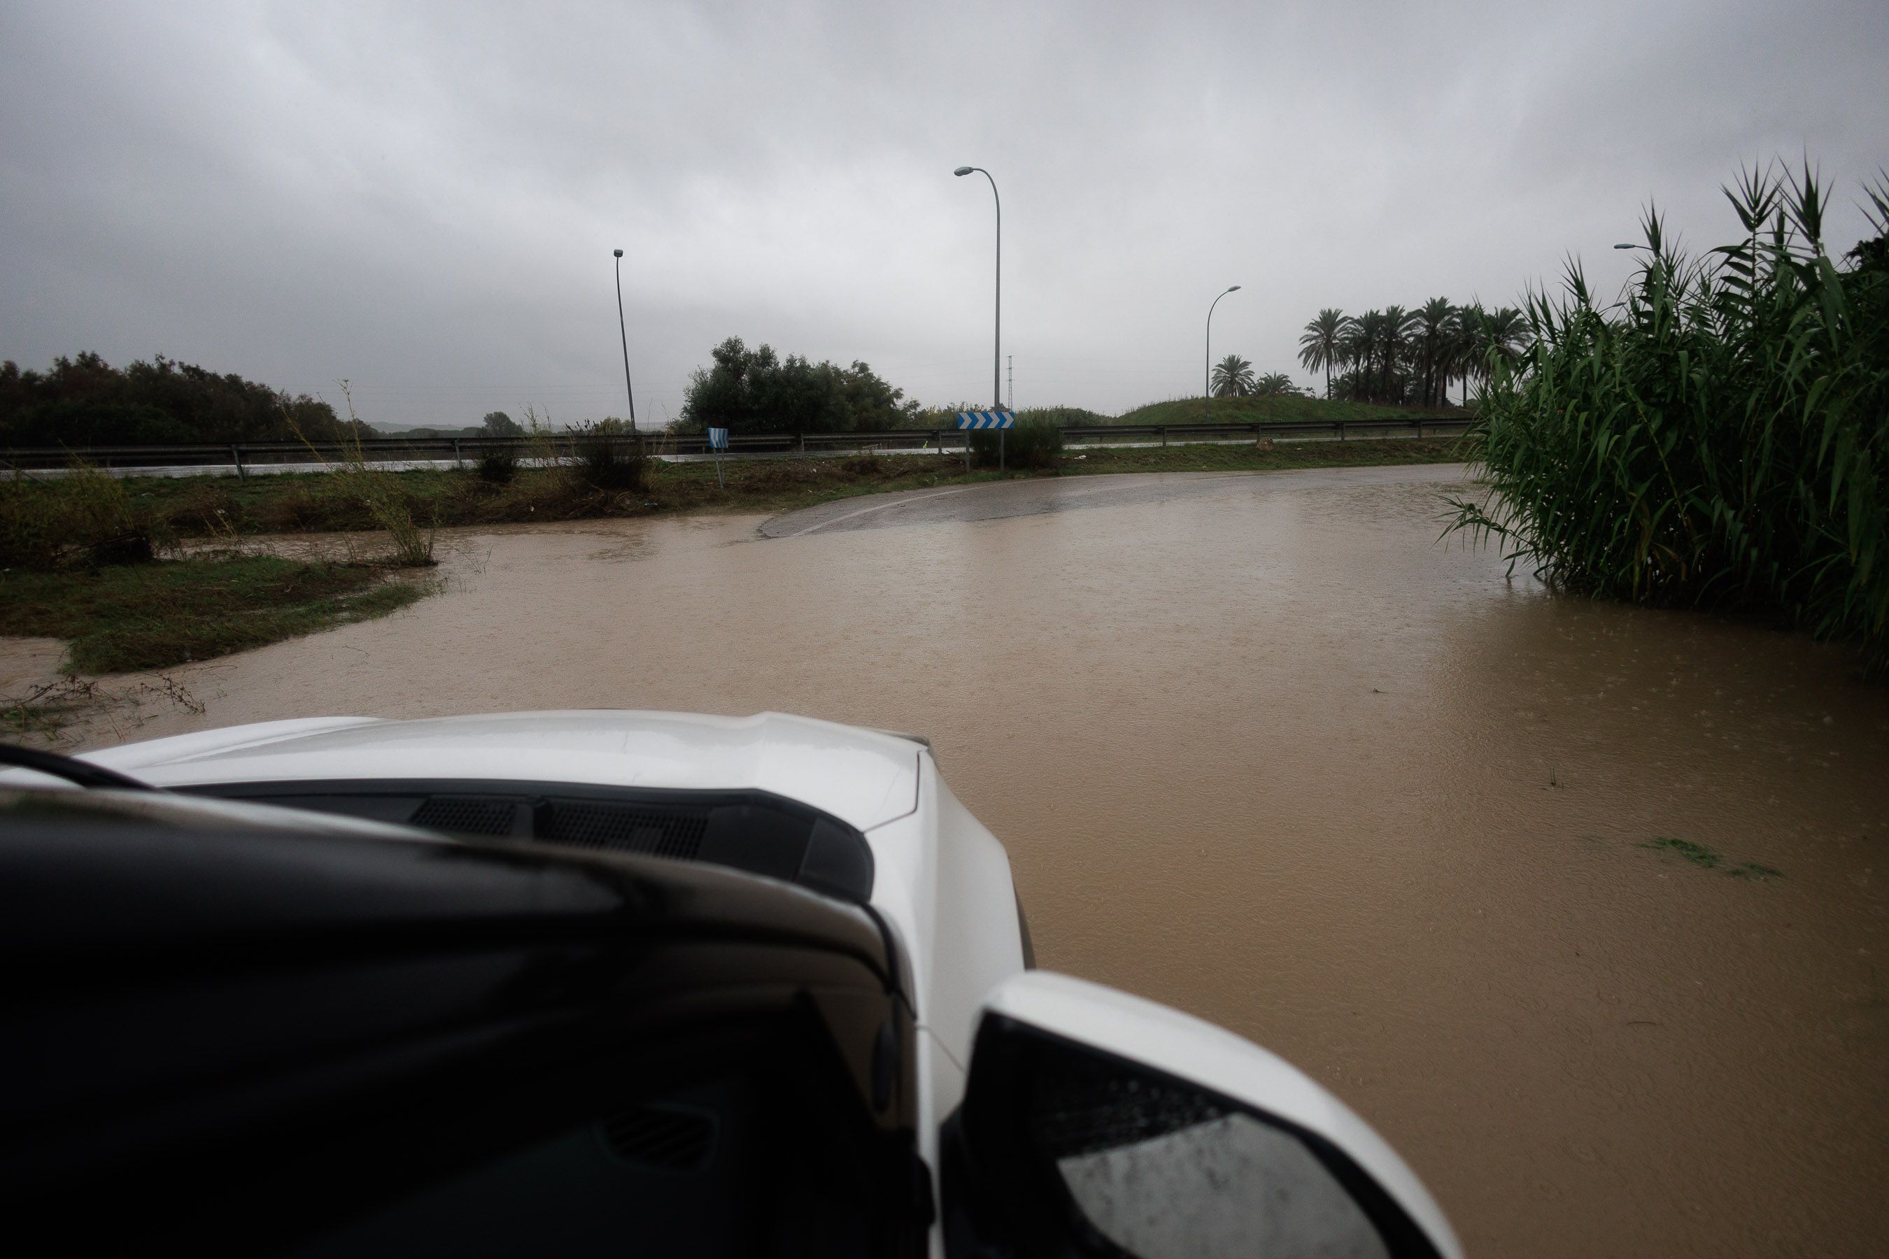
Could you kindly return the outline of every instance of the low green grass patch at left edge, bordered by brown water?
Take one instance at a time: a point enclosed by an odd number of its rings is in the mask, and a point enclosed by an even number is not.
[[[0,634],[64,638],[66,666],[121,674],[385,615],[429,593],[378,566],[219,555],[0,574]]]

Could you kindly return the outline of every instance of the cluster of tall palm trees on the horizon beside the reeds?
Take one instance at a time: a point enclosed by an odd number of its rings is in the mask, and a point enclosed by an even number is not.
[[[1320,310],[1300,336],[1300,362],[1324,372],[1328,398],[1443,406],[1451,383],[1462,383],[1468,402],[1470,381],[1487,381],[1492,359],[1515,362],[1528,342],[1528,319],[1513,306],[1430,298],[1362,315]]]

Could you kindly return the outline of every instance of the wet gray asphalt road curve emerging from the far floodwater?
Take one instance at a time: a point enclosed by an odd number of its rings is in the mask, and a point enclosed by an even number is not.
[[[996,521],[1082,508],[1124,508],[1213,495],[1271,495],[1294,489],[1351,485],[1453,483],[1464,464],[1402,464],[1388,468],[1296,468],[1290,472],[1130,472],[1116,476],[1031,478],[950,489],[912,489],[897,495],[841,498],[788,512],[761,525],[765,538],[801,538],[854,529]]]

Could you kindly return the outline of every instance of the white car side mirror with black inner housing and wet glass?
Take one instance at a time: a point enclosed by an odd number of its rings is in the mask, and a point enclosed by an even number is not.
[[[1462,1253],[1415,1172],[1300,1070],[1043,970],[986,995],[941,1159],[954,1259]]]

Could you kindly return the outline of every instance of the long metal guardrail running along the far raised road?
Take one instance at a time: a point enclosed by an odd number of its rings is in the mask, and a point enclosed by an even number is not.
[[[1339,442],[1353,434],[1381,434],[1411,430],[1415,436],[1462,432],[1470,427],[1466,415],[1409,415],[1385,419],[1313,419],[1247,425],[1067,425],[1064,442],[1109,444],[1137,442],[1184,445],[1203,442],[1260,440],[1266,436],[1330,436]],[[735,432],[729,434],[729,455],[833,455],[867,449],[963,449],[958,428],[886,428],[880,432]],[[706,455],[706,432],[646,432],[650,453]],[[586,444],[621,442],[621,436],[597,438],[561,434],[552,440],[557,455],[576,455]],[[417,461],[478,461],[480,455],[510,449],[519,459],[544,453],[544,438],[365,438],[355,442],[240,442],[234,445],[74,445],[0,449],[0,468],[36,470],[64,468],[83,459],[100,468],[178,468],[215,466],[234,468],[238,476],[255,464],[342,462],[359,453],[368,462]]]

